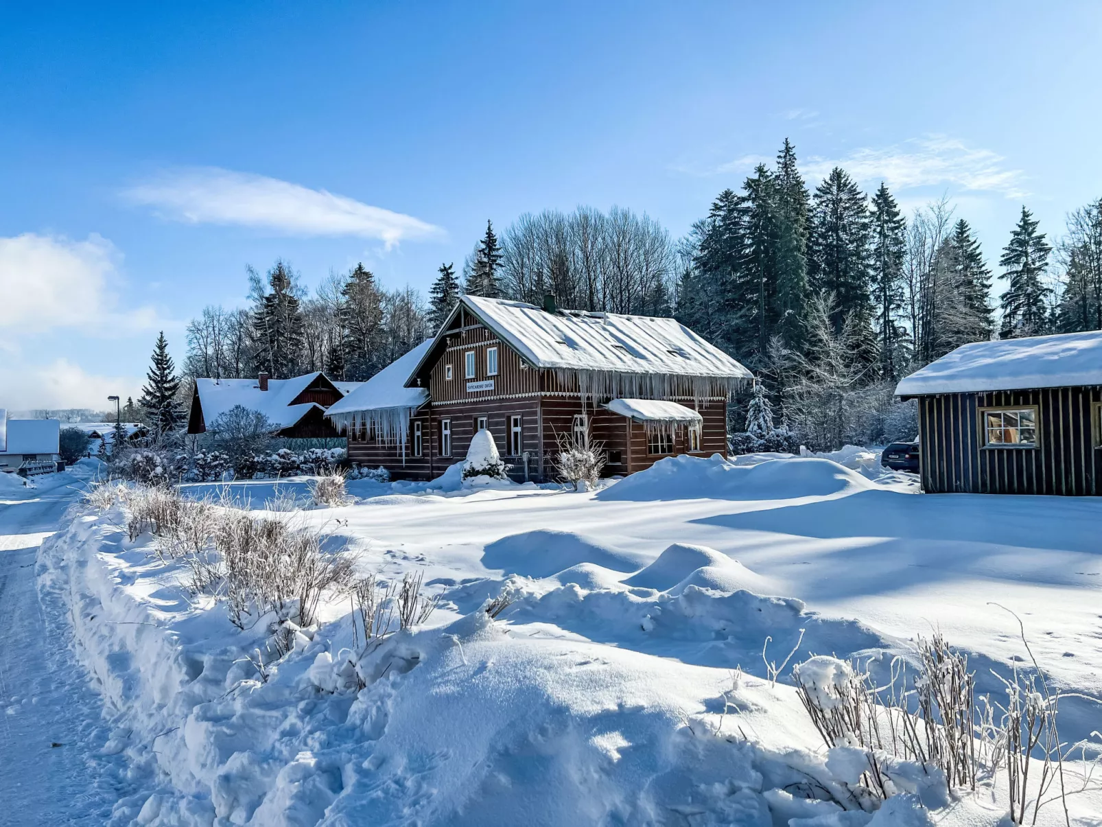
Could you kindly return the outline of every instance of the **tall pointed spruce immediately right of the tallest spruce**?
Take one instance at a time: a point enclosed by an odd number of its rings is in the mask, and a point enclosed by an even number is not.
[[[818,292],[833,294],[835,333],[852,313],[871,322],[869,240],[865,196],[835,167],[815,187],[808,232],[809,280]]]

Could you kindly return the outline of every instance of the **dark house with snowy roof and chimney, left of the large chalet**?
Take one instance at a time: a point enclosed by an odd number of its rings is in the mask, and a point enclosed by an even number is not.
[[[256,379],[196,379],[187,432],[205,433],[219,416],[240,405],[263,414],[277,437],[336,438],[323,415],[361,384],[334,382],[321,372],[290,379],[269,379],[263,373]]]

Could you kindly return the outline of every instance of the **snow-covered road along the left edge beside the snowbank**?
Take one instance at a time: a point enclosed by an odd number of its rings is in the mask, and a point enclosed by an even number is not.
[[[0,825],[102,825],[128,792],[66,608],[36,588],[39,546],[79,493],[66,483],[0,492]]]

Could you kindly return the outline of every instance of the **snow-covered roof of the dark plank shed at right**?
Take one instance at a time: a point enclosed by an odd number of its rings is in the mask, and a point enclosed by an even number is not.
[[[896,386],[896,396],[1102,385],[1102,331],[973,342]]]

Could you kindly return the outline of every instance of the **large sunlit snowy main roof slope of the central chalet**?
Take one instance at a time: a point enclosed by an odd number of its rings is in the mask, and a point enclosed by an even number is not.
[[[464,296],[462,301],[533,367],[745,380],[753,374],[676,319],[560,310]]]

